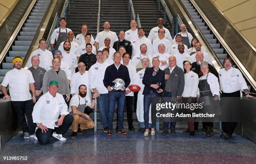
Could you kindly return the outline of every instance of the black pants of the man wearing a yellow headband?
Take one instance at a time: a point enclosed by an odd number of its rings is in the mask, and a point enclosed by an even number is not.
[[[36,124],[33,123],[32,112],[34,103],[33,100],[27,101],[11,101],[13,104],[13,108],[15,109],[18,119],[20,122],[20,126],[22,128],[23,133],[29,132],[30,135],[35,133]],[[28,124],[25,119],[25,113],[28,119]]]

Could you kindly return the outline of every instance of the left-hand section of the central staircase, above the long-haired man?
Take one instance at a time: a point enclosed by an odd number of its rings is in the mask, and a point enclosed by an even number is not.
[[[87,24],[89,33],[95,39],[98,8],[99,0],[70,0],[70,5],[67,8],[67,27],[77,36],[81,33],[79,31],[80,26]]]

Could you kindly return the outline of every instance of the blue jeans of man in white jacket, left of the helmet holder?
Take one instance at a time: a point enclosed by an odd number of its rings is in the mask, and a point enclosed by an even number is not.
[[[108,127],[108,94],[100,94],[97,98],[97,104],[99,105],[100,123],[102,127]]]

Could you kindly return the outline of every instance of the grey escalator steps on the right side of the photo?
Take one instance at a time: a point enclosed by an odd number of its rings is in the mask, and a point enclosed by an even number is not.
[[[206,25],[204,20],[200,18],[200,15],[198,12],[194,9],[192,4],[189,0],[181,0],[181,2],[184,4],[185,8],[189,12],[191,18],[196,22],[197,26],[201,30],[204,37],[207,39],[207,41],[210,43],[210,46],[212,47],[212,50],[214,50],[215,54],[220,59],[220,62],[223,63],[223,60],[227,57],[227,54],[224,53],[224,49],[221,47],[220,43],[218,43],[218,40],[216,37],[212,34],[210,28]]]

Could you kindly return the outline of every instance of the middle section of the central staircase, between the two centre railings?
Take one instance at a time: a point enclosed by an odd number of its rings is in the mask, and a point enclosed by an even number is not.
[[[100,31],[106,21],[110,23],[110,30],[117,35],[120,30],[130,30],[129,0],[101,0],[100,5]]]

